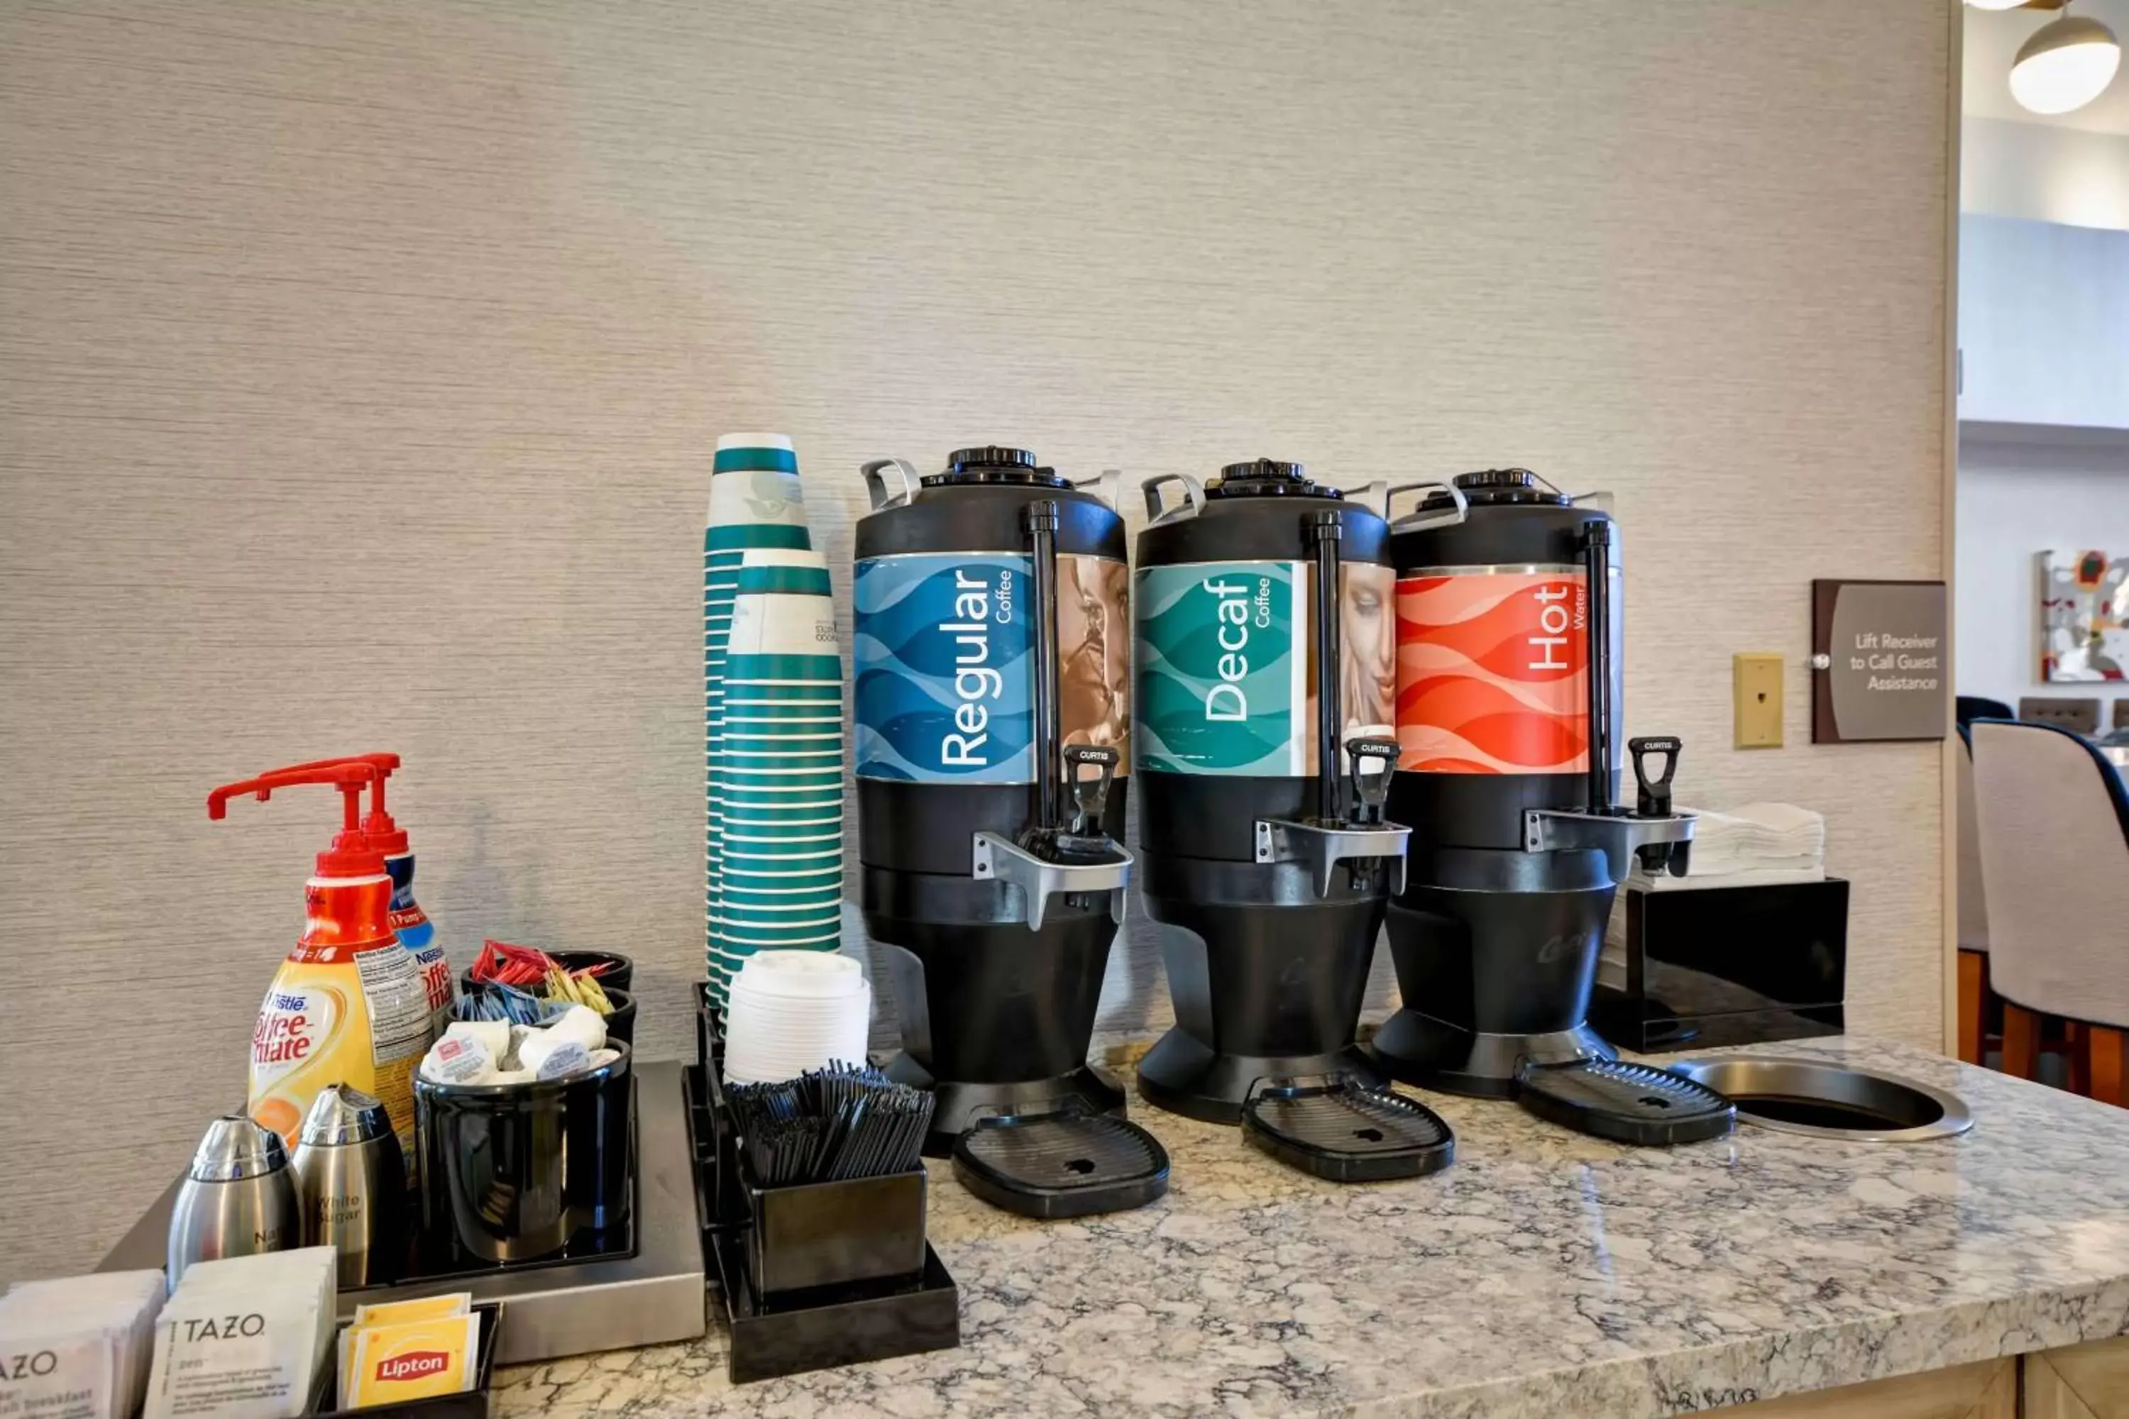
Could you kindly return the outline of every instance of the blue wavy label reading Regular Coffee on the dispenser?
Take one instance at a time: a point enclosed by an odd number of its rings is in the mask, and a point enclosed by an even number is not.
[[[858,562],[856,772],[905,783],[1033,783],[1026,553]]]

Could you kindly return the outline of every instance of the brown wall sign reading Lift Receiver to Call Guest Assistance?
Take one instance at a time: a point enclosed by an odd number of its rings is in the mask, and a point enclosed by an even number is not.
[[[1812,742],[1944,738],[1942,581],[1812,583]]]

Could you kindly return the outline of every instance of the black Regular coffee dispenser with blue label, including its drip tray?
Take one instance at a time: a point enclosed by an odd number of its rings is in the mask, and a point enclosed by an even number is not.
[[[1130,877],[1124,519],[1024,449],[864,477],[858,855],[903,1030],[888,1072],[937,1091],[926,1151],[986,1200],[1143,1202],[1167,1155],[1105,1117],[1124,1094],[1086,1062]]]

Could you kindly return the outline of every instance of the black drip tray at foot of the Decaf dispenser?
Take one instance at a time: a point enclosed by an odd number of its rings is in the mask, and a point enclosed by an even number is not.
[[[1284,1079],[1252,1091],[1241,1136],[1333,1183],[1416,1179],[1456,1159],[1456,1134],[1441,1115],[1350,1076]]]

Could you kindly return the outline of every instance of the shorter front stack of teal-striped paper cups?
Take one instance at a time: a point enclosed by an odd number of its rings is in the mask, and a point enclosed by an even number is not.
[[[843,940],[843,655],[815,551],[754,553],[739,568],[711,781],[709,991],[722,1004],[756,951]]]

